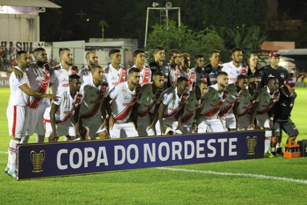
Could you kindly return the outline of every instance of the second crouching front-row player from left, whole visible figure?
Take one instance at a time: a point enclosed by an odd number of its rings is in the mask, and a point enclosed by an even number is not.
[[[91,68],[92,79],[82,84],[80,93],[83,101],[80,108],[82,126],[89,132],[89,138],[107,139],[105,98],[107,97],[107,83],[103,81],[103,68],[95,65]],[[102,120],[103,118],[103,120]]]

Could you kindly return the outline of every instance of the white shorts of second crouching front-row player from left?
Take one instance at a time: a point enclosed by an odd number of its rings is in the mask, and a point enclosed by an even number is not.
[[[90,139],[96,139],[98,133],[105,131],[102,124],[103,120],[100,115],[90,118],[82,118],[82,125],[87,132],[89,132]]]

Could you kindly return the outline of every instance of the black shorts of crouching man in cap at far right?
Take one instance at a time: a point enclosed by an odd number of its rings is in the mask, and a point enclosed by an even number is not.
[[[280,131],[286,132],[289,137],[298,135],[298,130],[291,119],[280,120],[276,119],[273,126],[273,136],[280,136]]]

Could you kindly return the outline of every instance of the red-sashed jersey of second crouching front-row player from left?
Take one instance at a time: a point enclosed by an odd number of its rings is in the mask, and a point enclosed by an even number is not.
[[[97,115],[100,116],[102,101],[108,94],[107,86],[99,85],[96,87],[92,78],[82,84],[80,94],[83,95],[83,101],[80,108],[81,117],[90,118],[96,117]]]

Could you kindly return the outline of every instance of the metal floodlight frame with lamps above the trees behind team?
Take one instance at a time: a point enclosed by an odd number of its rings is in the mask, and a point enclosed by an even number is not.
[[[158,3],[152,2],[152,7],[147,7],[144,48],[146,47],[147,43],[148,17],[150,9],[160,10],[160,24],[162,24],[163,17],[165,17],[167,26],[168,26],[168,10],[178,9],[178,27],[180,27],[181,25],[180,7],[172,7],[172,4],[170,2],[166,2],[165,7],[158,7],[158,6],[159,6]]]

